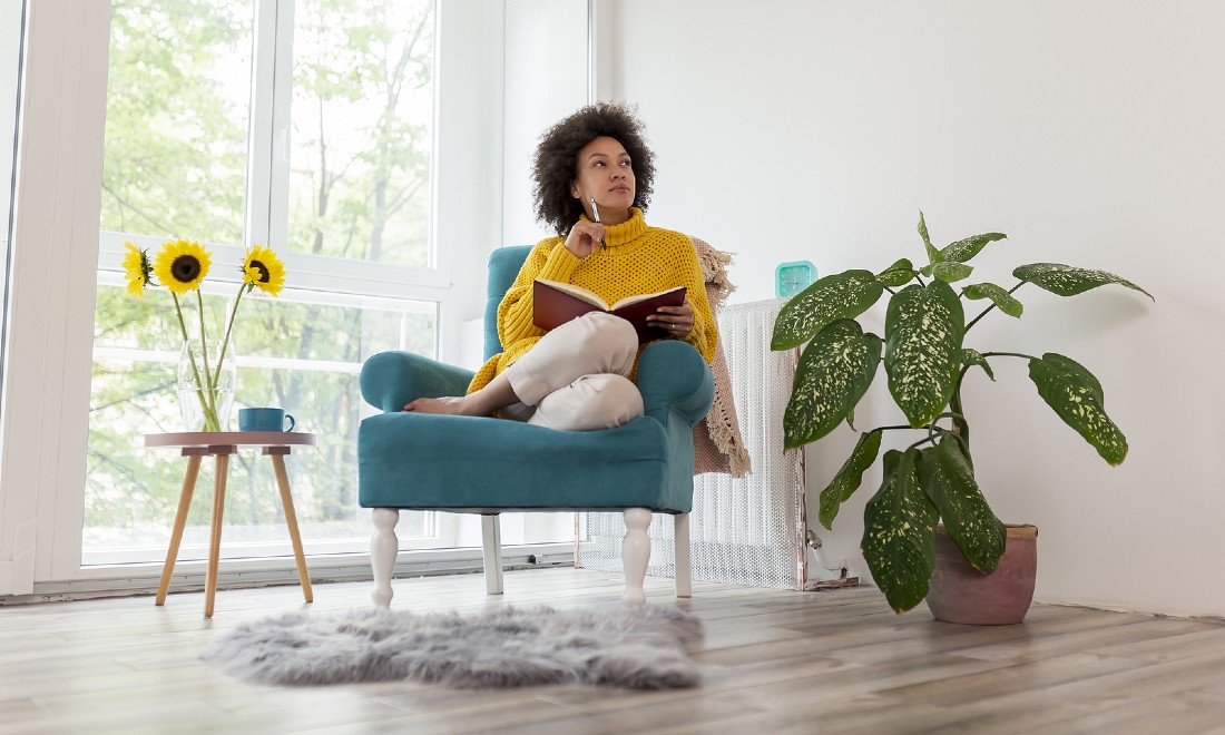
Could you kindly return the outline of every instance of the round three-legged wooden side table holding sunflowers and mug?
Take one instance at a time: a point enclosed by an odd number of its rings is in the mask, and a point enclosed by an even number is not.
[[[281,490],[281,503],[285,510],[285,524],[289,526],[289,539],[294,545],[294,560],[298,562],[298,579],[301,582],[306,601],[314,600],[310,576],[306,572],[306,556],[303,554],[303,540],[298,533],[298,516],[294,513],[294,500],[289,494],[289,474],[285,472],[285,454],[293,447],[315,446],[314,434],[293,431],[146,434],[145,446],[180,450],[180,456],[187,458],[187,474],[183,479],[179,510],[174,516],[174,530],[170,534],[170,548],[165,552],[165,566],[162,567],[162,581],[157,588],[156,604],[165,604],[165,595],[170,589],[170,577],[174,573],[174,562],[179,556],[183,529],[187,524],[187,510],[191,507],[191,495],[196,488],[196,477],[200,474],[200,462],[203,457],[213,457],[217,470],[213,481],[208,573],[205,577],[205,617],[213,616],[213,599],[217,595],[217,566],[221,559],[222,511],[225,506],[225,477],[229,473],[229,456],[238,453],[239,448],[258,448],[262,450],[261,453],[272,457],[272,466],[277,472],[277,488]]]

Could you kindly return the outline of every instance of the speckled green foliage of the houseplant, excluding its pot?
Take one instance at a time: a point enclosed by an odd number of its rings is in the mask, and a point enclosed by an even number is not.
[[[967,332],[993,310],[1020,317],[1022,304],[1013,294],[1027,283],[1061,296],[1118,284],[1153,298],[1111,273],[1058,263],[1016,268],[1012,274],[1019,283],[1007,290],[993,283],[974,283],[958,293],[949,284],[970,276],[970,258],[1006,235],[986,233],[936,249],[922,212],[919,235],[927,252],[926,266],[916,270],[902,258],[880,273],[851,270],[821,278],[783,307],[771,344],[783,350],[807,343],[783,418],[786,447],[817,441],[842,421],[855,429],[855,405],[881,363],[889,393],[908,421],[860,432],[850,457],[821,492],[820,518],[826,528],[876,462],[882,434],[921,432],[904,451],[884,452],[881,488],[864,512],[864,557],[898,612],[927,595],[937,522],[944,523],[967,561],[984,575],[995,570],[1003,554],[1005,526],[974,479],[969,423],[962,407],[962,383],[970,369],[981,368],[993,381],[991,360],[1028,360],[1038,394],[1067,425],[1110,464],[1127,456],[1127,440],[1104,409],[1101,383],[1084,366],[1056,353],[978,352],[965,347]],[[889,299],[881,338],[866,332],[856,317],[886,292]],[[985,307],[967,321],[963,299],[984,301]]]

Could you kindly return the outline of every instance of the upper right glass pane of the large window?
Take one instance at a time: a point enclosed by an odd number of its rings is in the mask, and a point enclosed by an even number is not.
[[[289,243],[425,267],[434,16],[423,0],[358,5],[312,0],[294,16]]]

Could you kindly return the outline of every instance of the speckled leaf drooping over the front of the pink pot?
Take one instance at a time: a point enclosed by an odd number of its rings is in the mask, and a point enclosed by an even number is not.
[[[922,450],[919,484],[936,505],[948,535],[970,566],[984,575],[995,571],[1007,532],[982,497],[957,440],[943,439]]]

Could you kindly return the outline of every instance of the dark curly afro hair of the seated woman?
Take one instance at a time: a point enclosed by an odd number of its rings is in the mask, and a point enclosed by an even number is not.
[[[633,206],[647,211],[655,178],[655,154],[643,140],[643,126],[635,111],[627,104],[598,102],[571,114],[540,136],[532,167],[537,219],[554,228],[559,235],[570,232],[578,222],[583,205],[570,191],[578,178],[578,152],[601,136],[625,146],[633,165]]]

